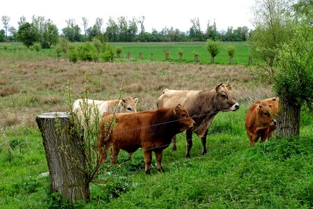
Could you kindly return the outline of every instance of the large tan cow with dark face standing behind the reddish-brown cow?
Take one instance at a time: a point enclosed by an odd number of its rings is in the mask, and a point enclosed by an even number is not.
[[[231,86],[218,84],[215,88],[203,91],[169,90],[165,89],[158,98],[158,108],[173,107],[182,104],[196,122],[186,130],[187,150],[185,157],[190,157],[192,148],[192,132],[201,137],[202,155],[206,154],[206,135],[213,118],[220,111],[236,111],[239,104],[231,95]],[[176,150],[176,137],[173,138],[173,150]]]

